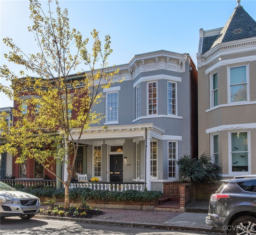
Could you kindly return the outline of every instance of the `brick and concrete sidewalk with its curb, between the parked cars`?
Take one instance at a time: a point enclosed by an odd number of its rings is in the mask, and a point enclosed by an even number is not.
[[[172,212],[172,211],[142,211],[125,209],[101,209],[105,214],[91,218],[61,218],[36,215],[37,218],[75,220],[91,223],[109,223],[129,226],[145,226],[169,229],[184,229],[207,232],[220,232],[213,230],[205,223],[206,213]]]

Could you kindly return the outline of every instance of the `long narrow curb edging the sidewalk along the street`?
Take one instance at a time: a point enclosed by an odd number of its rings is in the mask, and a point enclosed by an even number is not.
[[[181,230],[192,230],[192,231],[204,231],[204,232],[220,232],[218,229],[203,228],[203,227],[182,227],[167,224],[152,224],[152,223],[134,223],[134,222],[117,222],[113,220],[98,220],[98,219],[82,219],[82,218],[69,218],[69,217],[54,217],[47,215],[35,215],[34,218],[42,219],[54,219],[54,220],[66,220],[66,221],[76,221],[76,222],[87,222],[87,223],[97,223],[97,224],[116,224],[116,225],[126,225],[126,226],[142,226],[147,228],[162,228],[162,229],[181,229]]]

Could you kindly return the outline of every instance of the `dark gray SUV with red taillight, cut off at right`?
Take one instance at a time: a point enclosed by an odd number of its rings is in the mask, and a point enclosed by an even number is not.
[[[256,235],[256,175],[222,182],[211,196],[205,222],[226,234]]]

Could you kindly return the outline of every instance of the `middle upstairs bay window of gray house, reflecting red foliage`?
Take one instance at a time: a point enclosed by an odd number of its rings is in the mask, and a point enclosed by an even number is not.
[[[147,83],[148,114],[157,114],[157,82]]]

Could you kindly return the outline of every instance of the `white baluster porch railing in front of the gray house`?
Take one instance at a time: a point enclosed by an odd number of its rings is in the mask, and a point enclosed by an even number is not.
[[[90,188],[93,190],[127,191],[129,189],[143,192],[144,183],[135,182],[71,182],[69,188]]]

